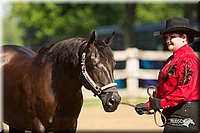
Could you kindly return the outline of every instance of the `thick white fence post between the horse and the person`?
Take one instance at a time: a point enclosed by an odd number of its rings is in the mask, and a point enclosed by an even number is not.
[[[126,62],[126,71],[127,71],[127,80],[126,86],[127,91],[130,95],[137,95],[137,90],[139,86],[138,72],[139,72],[139,50],[137,48],[128,48],[126,49],[127,53],[127,62]]]

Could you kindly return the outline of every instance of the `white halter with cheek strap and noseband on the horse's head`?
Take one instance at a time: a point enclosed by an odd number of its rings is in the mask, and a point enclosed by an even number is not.
[[[86,53],[84,52],[82,54],[82,58],[81,58],[81,72],[84,76],[84,78],[86,79],[86,81],[92,86],[92,88],[95,90],[94,92],[94,96],[96,95],[100,95],[102,92],[117,92],[117,90],[108,90],[108,88],[113,87],[113,86],[117,86],[116,83],[109,83],[105,86],[99,87],[94,81],[93,79],[90,77],[90,75],[88,74],[87,70],[86,70],[86,65],[85,65],[85,60],[86,60]]]

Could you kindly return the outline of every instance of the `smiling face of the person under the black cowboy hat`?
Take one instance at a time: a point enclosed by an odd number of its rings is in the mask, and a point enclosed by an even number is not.
[[[185,45],[186,42],[186,35],[183,34],[182,36],[177,33],[169,33],[165,35],[166,38],[166,45],[168,49],[172,52],[175,52],[180,47]]]

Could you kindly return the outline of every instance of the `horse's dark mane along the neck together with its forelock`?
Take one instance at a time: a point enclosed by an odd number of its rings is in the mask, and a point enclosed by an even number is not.
[[[40,63],[52,62],[65,69],[76,68],[80,64],[80,46],[86,42],[87,39],[84,38],[71,38],[43,46],[37,52],[41,56]],[[98,49],[100,57],[108,60],[113,59],[112,50],[103,41],[95,40],[95,47]]]

